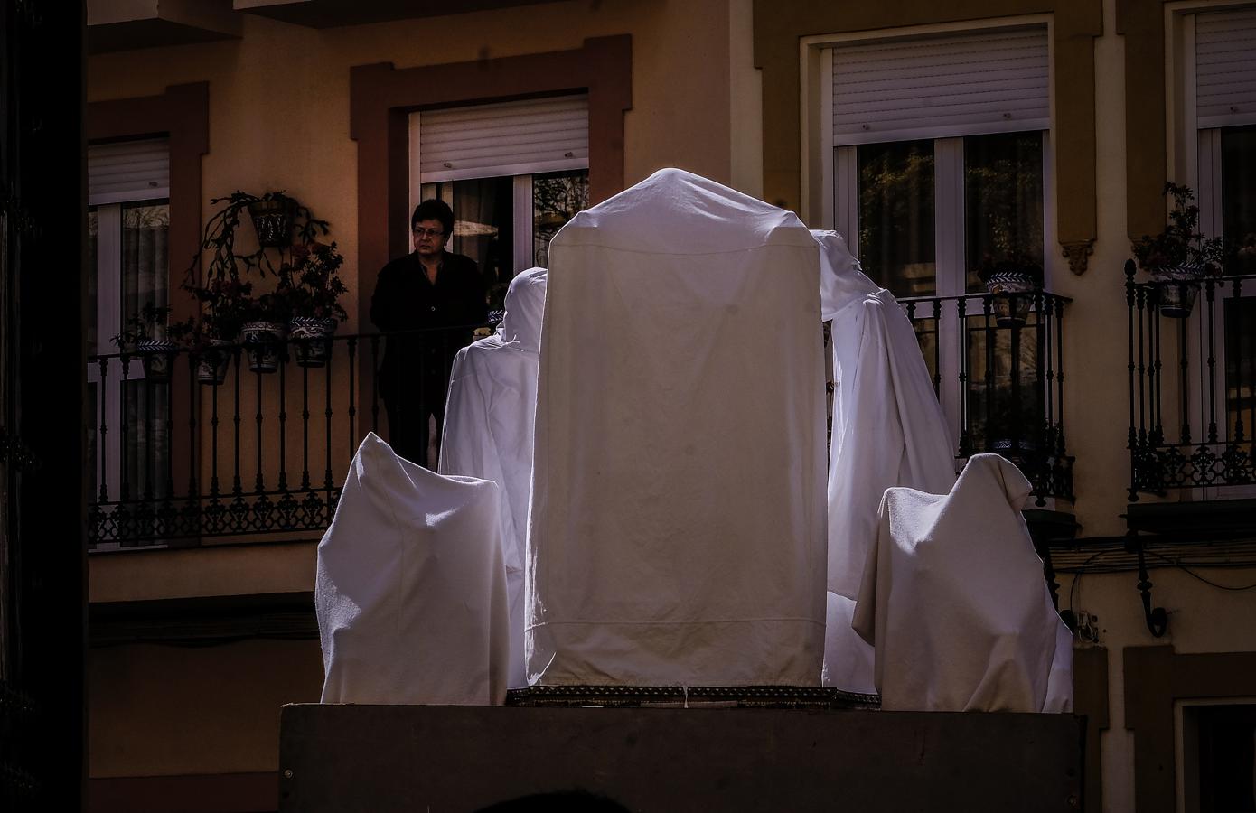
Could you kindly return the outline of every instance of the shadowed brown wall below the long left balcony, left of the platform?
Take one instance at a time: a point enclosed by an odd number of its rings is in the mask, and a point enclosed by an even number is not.
[[[88,653],[92,777],[278,770],[279,707],[317,702],[318,641],[132,645]]]

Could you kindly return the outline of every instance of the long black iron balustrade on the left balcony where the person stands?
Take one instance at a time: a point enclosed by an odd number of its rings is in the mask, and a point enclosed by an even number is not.
[[[422,376],[425,363],[447,358],[471,329],[315,339],[323,353],[285,341],[270,372],[263,357],[276,348],[247,344],[89,357],[97,423],[89,547],[322,533],[362,436],[391,434],[381,431],[377,383],[388,342],[397,343],[398,367]],[[436,352],[416,352],[425,348]],[[421,391],[398,397],[420,400],[406,413],[430,411]]]

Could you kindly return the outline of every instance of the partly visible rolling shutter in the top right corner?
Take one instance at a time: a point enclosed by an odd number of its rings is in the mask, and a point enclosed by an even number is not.
[[[1196,126],[1256,123],[1256,10],[1194,18]]]

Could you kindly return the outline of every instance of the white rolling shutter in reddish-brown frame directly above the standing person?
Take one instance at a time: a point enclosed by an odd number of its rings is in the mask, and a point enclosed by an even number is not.
[[[423,111],[416,126],[422,183],[589,166],[588,94]]]

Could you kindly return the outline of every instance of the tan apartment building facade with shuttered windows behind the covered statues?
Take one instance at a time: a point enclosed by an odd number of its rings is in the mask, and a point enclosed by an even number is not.
[[[1253,30],[1220,0],[89,3],[93,808],[273,804],[413,204],[453,206],[491,288],[676,166],[847,235],[917,324],[957,466],[1030,476],[1078,631],[1085,804],[1251,809]],[[1166,181],[1235,258],[1184,318],[1125,268]],[[347,319],[323,367],[236,351],[203,385],[180,354],[167,382],[109,339],[148,302],[196,313],[181,284],[236,190],[328,221]],[[1020,319],[980,274],[1012,259],[1041,273]]]

